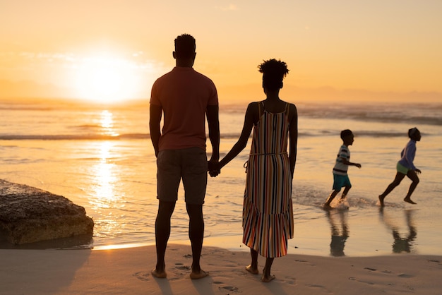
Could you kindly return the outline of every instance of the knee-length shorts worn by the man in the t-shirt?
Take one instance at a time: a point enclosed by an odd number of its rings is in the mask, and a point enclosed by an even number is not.
[[[202,205],[207,171],[207,155],[201,148],[161,150],[157,157],[157,199],[177,201],[179,183],[183,179],[186,203]]]

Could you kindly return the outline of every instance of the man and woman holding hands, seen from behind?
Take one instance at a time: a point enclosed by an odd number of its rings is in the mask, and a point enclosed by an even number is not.
[[[253,129],[243,210],[243,242],[251,249],[251,265],[246,270],[258,275],[260,254],[266,258],[261,280],[270,282],[275,279],[270,272],[273,259],[287,254],[287,240],[293,238],[294,232],[292,179],[297,156],[297,108],[279,97],[282,80],[289,72],[287,64],[269,59],[258,66],[263,74],[265,100],[249,104],[239,140],[219,161],[215,84],[193,69],[196,41],[191,35],[179,35],[174,45],[176,66],[155,81],[150,98],[150,136],[157,156],[159,200],[155,220],[157,264],[152,275],[167,277],[165,251],[181,179],[193,258],[190,277],[201,279],[208,275],[200,265],[207,172],[210,176],[220,174],[220,169],[244,150]],[[205,118],[212,145],[209,161],[205,152]]]

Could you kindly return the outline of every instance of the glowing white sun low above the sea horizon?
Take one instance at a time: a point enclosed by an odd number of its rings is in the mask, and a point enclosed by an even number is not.
[[[135,98],[139,90],[136,65],[112,54],[88,56],[76,66],[76,92],[81,99],[98,103]]]

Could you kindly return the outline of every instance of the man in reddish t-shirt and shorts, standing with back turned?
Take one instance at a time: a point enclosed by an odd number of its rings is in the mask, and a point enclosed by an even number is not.
[[[208,162],[205,153],[205,117],[212,145],[210,162],[220,158],[220,123],[217,90],[212,80],[193,69],[195,39],[183,34],[175,39],[173,56],[176,66],[158,78],[150,97],[150,137],[157,156],[157,199],[155,242],[157,265],[152,275],[167,277],[165,251],[170,235],[170,218],[177,202],[181,179],[189,215],[189,238],[192,247],[191,279],[201,279],[203,247],[203,203],[207,186]],[[162,131],[160,121],[164,114]]]

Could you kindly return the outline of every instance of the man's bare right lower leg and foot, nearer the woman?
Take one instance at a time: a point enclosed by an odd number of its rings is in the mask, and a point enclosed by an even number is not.
[[[189,214],[189,239],[192,246],[192,270],[191,279],[201,279],[208,272],[201,270],[200,258],[204,239],[203,205],[186,204]]]

